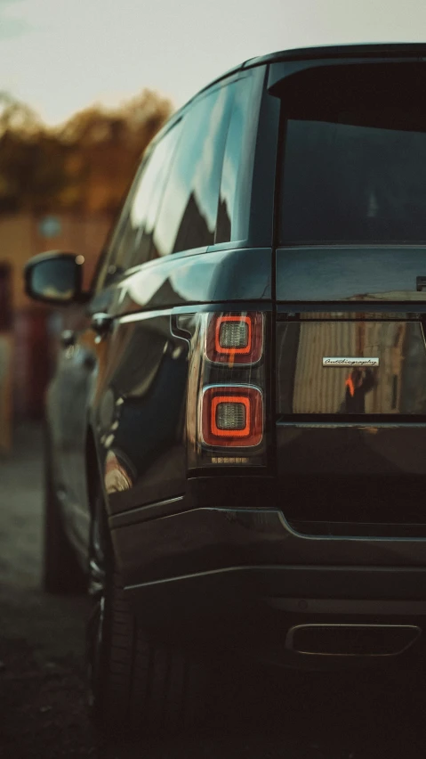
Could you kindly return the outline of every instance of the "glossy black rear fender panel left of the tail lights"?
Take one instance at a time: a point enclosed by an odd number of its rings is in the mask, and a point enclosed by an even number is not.
[[[147,314],[117,324],[109,350],[112,360],[93,417],[105,476],[115,456],[128,479],[118,504],[116,493],[109,493],[113,513],[185,492],[189,344],[172,334],[169,314]]]

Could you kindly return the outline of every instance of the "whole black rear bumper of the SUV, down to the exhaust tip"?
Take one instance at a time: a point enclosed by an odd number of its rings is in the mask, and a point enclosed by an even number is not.
[[[299,535],[277,509],[179,507],[112,531],[126,592],[156,634],[300,665],[288,640],[301,624],[425,625],[425,539]]]

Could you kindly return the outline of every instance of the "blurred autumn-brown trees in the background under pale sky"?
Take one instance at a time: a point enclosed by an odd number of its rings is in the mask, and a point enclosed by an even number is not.
[[[0,93],[0,213],[115,213],[141,153],[172,110],[143,90],[120,108],[91,106],[52,129]]]

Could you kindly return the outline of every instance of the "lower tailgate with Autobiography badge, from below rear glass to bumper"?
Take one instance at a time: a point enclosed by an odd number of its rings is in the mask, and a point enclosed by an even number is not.
[[[310,251],[306,268],[304,251],[290,252],[277,250],[277,472],[285,517],[305,534],[426,535],[423,293],[413,277],[408,290],[406,274],[402,304],[386,267],[382,291],[377,285],[369,293],[369,267],[352,249],[358,279],[345,277],[343,267],[346,291],[337,292],[330,272],[318,276],[315,303]],[[323,264],[336,263],[339,252]],[[415,271],[426,271],[417,252]],[[362,294],[354,293],[363,277]]]

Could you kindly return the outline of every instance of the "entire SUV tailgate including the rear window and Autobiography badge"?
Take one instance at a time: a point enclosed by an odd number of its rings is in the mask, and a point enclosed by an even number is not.
[[[280,93],[277,461],[302,531],[426,523],[425,84],[363,61]]]

